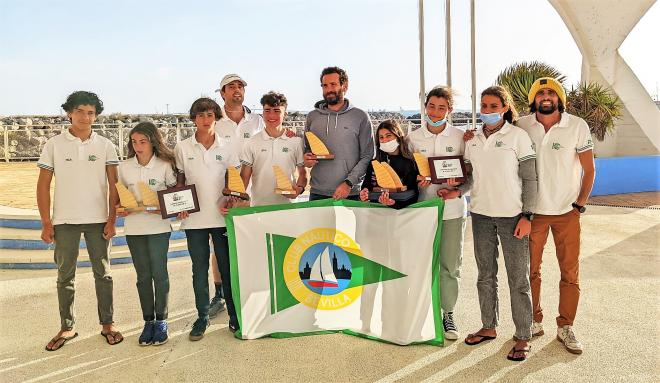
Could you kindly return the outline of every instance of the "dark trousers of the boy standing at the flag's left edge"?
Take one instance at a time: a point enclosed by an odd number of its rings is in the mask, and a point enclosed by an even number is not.
[[[209,316],[209,236],[213,242],[213,251],[218,261],[218,269],[222,278],[222,290],[225,294],[227,313],[230,320],[235,320],[236,309],[231,295],[231,277],[229,275],[229,242],[226,227],[209,229],[186,230],[188,252],[192,261],[193,290],[195,292],[195,306],[200,318]]]

